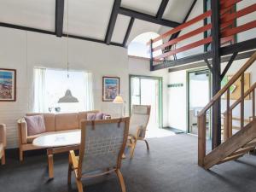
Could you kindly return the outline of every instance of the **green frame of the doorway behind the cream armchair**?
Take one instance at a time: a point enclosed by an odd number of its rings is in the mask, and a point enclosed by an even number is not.
[[[163,78],[156,77],[156,76],[146,76],[146,75],[134,75],[134,74],[129,75],[129,113],[130,115],[131,115],[131,78],[158,80],[159,82],[159,108],[158,108],[159,119],[158,120],[160,123],[160,128],[162,128],[163,127]]]

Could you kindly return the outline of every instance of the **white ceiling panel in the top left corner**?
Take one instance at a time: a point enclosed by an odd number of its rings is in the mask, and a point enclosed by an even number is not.
[[[0,0],[0,22],[55,31],[54,0]]]

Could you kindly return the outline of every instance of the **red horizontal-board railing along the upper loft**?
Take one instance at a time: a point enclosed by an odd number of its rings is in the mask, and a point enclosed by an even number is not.
[[[241,18],[242,16],[251,14],[256,11],[256,3],[253,3],[252,5],[247,6],[246,8],[236,11],[236,9],[234,9],[235,8],[234,6],[236,6],[236,3],[239,3],[242,0],[228,0],[228,1],[219,0],[219,1],[220,1],[220,22],[221,22],[219,30],[221,35],[221,45],[224,46],[224,45],[236,44],[235,36],[237,33],[245,32],[247,30],[250,30],[256,27],[256,20],[249,21],[240,26],[235,25],[236,20],[238,18]],[[207,20],[207,18],[210,18],[211,16],[212,16],[212,10],[208,10],[206,13],[196,16],[194,19],[189,20],[183,23],[182,25],[177,26],[176,28],[173,28],[170,31],[161,34],[159,37],[151,39],[148,42],[148,45],[150,46],[151,67],[154,64],[157,65],[157,64],[160,64],[161,62],[167,61],[168,58],[170,58],[170,56],[176,56],[178,53],[182,53],[183,51],[194,49],[202,45],[211,44],[212,36],[210,34],[207,38],[198,39],[197,41],[191,44],[185,44],[177,48],[176,46],[174,46],[184,40],[195,37],[196,35],[204,34],[207,31],[213,30],[211,23],[207,24],[206,26],[201,26],[195,29],[194,31],[186,32],[185,34],[177,38],[171,39],[167,42],[165,41],[166,38],[170,38],[172,34],[186,30],[189,26],[193,26],[196,23],[201,22],[202,20]],[[155,45],[155,43],[159,42],[160,40],[162,40],[164,43],[160,45]],[[172,48],[174,49],[169,49],[172,45],[173,45]],[[159,50],[161,50],[162,53],[160,55],[155,55],[156,51],[159,51]]]

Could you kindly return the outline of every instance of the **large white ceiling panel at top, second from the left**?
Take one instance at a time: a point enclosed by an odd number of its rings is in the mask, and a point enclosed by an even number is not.
[[[69,1],[69,33],[103,40],[112,8],[113,0]],[[65,3],[63,31],[67,33],[67,1]]]

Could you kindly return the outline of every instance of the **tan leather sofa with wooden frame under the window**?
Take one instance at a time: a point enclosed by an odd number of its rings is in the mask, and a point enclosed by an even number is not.
[[[44,115],[44,124],[46,131],[44,133],[27,136],[26,120],[24,118],[18,120],[19,131],[19,147],[20,161],[23,160],[23,152],[28,150],[39,149],[32,145],[35,138],[49,134],[69,132],[79,129],[80,121],[87,119],[87,113],[98,113],[99,111],[87,111],[79,113],[27,113],[26,116],[37,114]]]

